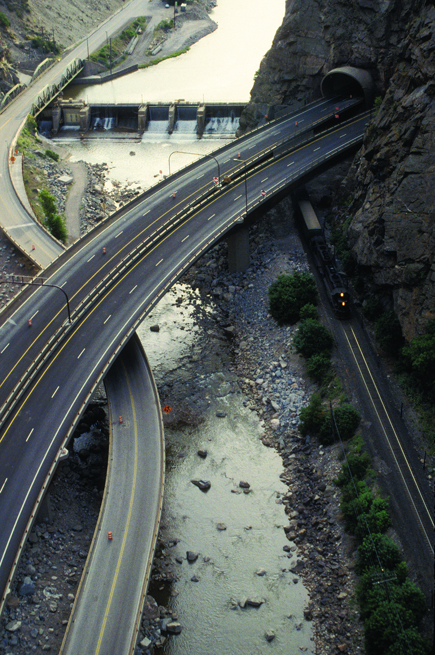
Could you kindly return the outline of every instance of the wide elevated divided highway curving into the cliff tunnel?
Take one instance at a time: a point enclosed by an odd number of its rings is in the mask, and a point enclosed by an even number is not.
[[[331,113],[336,103],[322,101],[317,109],[305,109],[298,123],[309,111],[318,116],[328,104]],[[2,594],[53,462],[141,318],[202,252],[242,221],[246,202],[252,211],[354,147],[362,140],[367,117],[296,148],[288,142],[289,121],[294,117],[215,151],[221,175],[234,176],[229,185],[215,185],[216,162],[200,160],[149,189],[47,267],[43,277],[69,297],[71,324],[64,294],[47,286],[26,288],[1,312]],[[239,153],[248,160],[246,196]],[[251,166],[264,153],[272,156],[258,169]],[[41,362],[33,365],[39,356]]]

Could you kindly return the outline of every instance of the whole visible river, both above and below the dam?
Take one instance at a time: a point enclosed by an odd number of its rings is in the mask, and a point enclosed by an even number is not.
[[[271,46],[284,15],[283,0],[219,0],[212,18],[219,28],[187,54],[156,67],[94,88],[75,89],[89,101],[147,102],[174,98],[210,102],[246,102],[255,70]],[[198,140],[189,135],[149,134],[143,138],[56,138],[71,160],[106,162],[109,180],[149,187],[198,155],[210,153],[225,139]],[[109,135],[107,135],[109,136]],[[233,353],[206,305],[189,286],[177,284],[147,317],[138,334],[155,373],[161,404],[183,399],[196,407],[202,422],[166,426],[166,476],[160,538],[180,540],[168,549],[168,567],[178,576],[172,585],[155,588],[157,602],[178,614],[183,630],[170,637],[164,655],[276,655],[311,652],[311,628],[303,620],[307,591],[295,584],[282,526],[288,522],[280,497],[280,457],[259,440],[262,425],[238,392],[231,372]],[[210,313],[211,312],[211,313]],[[202,314],[204,320],[199,320]],[[204,321],[206,327],[204,327]],[[159,324],[159,332],[149,327]],[[217,412],[225,417],[217,417]],[[208,451],[202,459],[198,449]],[[210,480],[202,493],[191,479]],[[242,493],[240,480],[251,485]],[[217,524],[225,525],[224,530]],[[222,526],[220,526],[222,527]],[[170,552],[169,552],[170,550]],[[186,552],[199,553],[189,564]],[[175,561],[182,557],[182,563]],[[263,570],[263,575],[257,574]],[[198,581],[191,578],[196,576]],[[261,598],[261,607],[241,608],[239,601]],[[273,631],[268,643],[265,633]],[[300,650],[299,650],[300,649]]]

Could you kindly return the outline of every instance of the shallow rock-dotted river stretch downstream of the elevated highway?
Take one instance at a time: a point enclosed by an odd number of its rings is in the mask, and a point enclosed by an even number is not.
[[[158,333],[149,329],[155,324]],[[151,593],[176,612],[183,629],[170,637],[164,653],[259,655],[271,647],[265,640],[269,632],[275,635],[277,655],[299,648],[311,652],[311,628],[303,619],[307,591],[289,571],[295,553],[288,557],[283,550],[289,542],[280,503],[288,491],[279,478],[282,461],[259,439],[263,425],[238,391],[231,344],[213,318],[213,302],[205,306],[197,291],[177,284],[145,318],[138,335],[161,404],[177,411],[186,401],[203,419],[165,427],[160,538],[180,540],[165,555],[167,571],[178,580],[161,590],[152,586]],[[207,451],[206,458],[199,457],[199,449]],[[210,490],[203,493],[192,479],[210,481]],[[243,493],[240,481],[251,485],[250,493]],[[189,550],[199,553],[195,563],[186,560]],[[238,603],[246,598],[265,602],[241,608]]]

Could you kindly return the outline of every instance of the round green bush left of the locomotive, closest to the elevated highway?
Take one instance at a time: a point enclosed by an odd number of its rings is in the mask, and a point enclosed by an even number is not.
[[[280,275],[269,287],[271,314],[279,324],[295,323],[301,308],[316,301],[316,282],[309,273]]]

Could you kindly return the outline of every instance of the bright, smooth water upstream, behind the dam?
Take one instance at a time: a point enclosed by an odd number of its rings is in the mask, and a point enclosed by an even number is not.
[[[186,54],[105,84],[73,87],[73,95],[89,102],[247,102],[283,16],[284,0],[218,0],[210,13],[218,28]]]

